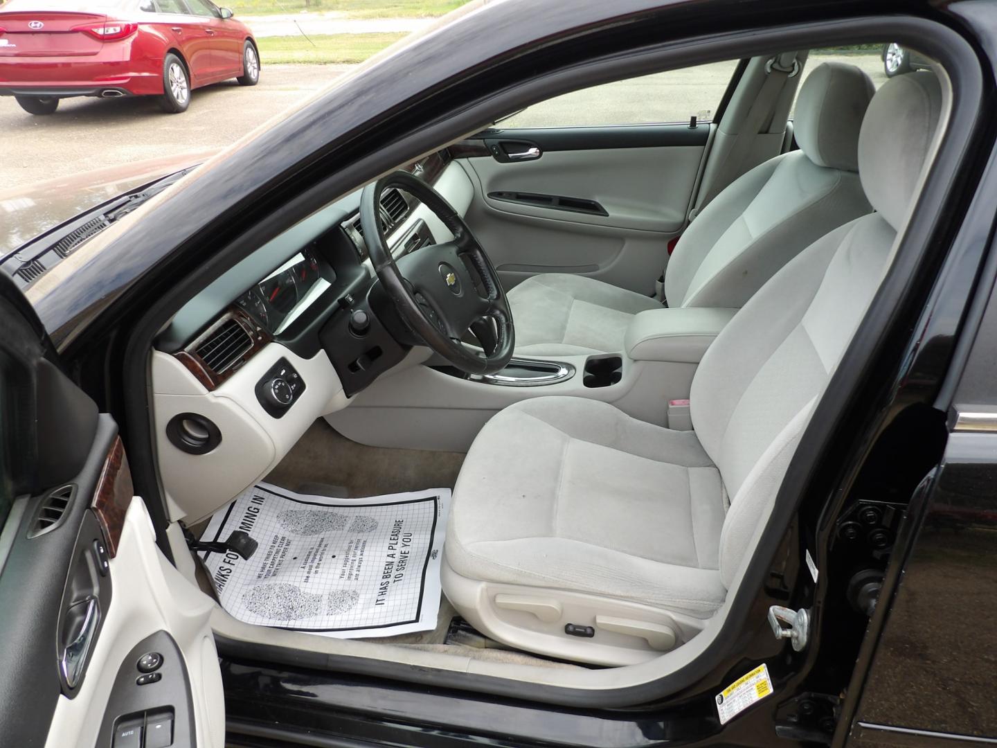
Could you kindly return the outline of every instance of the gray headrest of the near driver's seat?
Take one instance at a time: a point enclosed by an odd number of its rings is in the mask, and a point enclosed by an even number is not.
[[[899,230],[938,127],[941,86],[934,73],[907,73],[882,85],[858,136],[858,176],[869,203]]]

